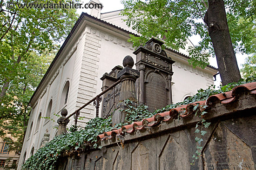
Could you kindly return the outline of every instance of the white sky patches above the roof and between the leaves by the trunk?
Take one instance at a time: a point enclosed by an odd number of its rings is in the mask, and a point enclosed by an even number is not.
[[[103,5],[103,8],[101,10],[101,13],[107,13],[107,12],[111,12],[111,11],[116,11],[116,10],[121,10],[123,9],[123,5],[121,4],[121,0],[99,0],[101,2],[101,4]],[[81,0],[81,2],[83,4],[86,4],[89,2],[89,0]],[[84,13],[89,13],[89,9],[78,9],[77,13],[80,15],[82,12]],[[194,36],[190,38],[191,42],[196,45],[199,41],[200,38],[199,36]],[[245,61],[245,58],[248,57],[248,55],[244,55],[241,53],[236,54],[236,59],[237,59],[237,64],[239,69],[242,68],[242,64]],[[216,58],[210,58],[210,65],[214,66],[214,67],[218,67],[217,66],[217,62],[216,62]],[[217,81],[215,82],[216,86],[220,85],[220,75],[217,75]]]

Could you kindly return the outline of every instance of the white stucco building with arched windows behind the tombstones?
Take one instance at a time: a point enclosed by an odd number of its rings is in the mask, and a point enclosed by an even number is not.
[[[55,114],[60,115],[61,110],[66,108],[69,115],[99,94],[102,75],[121,65],[126,55],[135,60],[134,48],[127,42],[129,34],[135,31],[121,21],[123,16],[118,15],[120,11],[100,12],[93,9],[91,15],[81,14],[34,92],[18,169],[32,155],[32,149],[35,153],[40,148],[46,130],[50,140],[55,136],[57,129],[54,126],[58,119]],[[175,61],[172,77],[174,103],[213,84],[213,75],[217,72],[215,68],[193,69],[184,54],[173,50],[166,52]],[[79,123],[84,126],[84,122],[94,118],[94,110],[92,104],[82,109],[80,117],[84,119]],[[74,124],[73,117],[68,126],[71,124]]]

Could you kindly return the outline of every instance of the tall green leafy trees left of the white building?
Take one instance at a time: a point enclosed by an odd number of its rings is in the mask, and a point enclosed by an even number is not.
[[[7,7],[10,3],[13,8]],[[19,8],[31,3],[59,0],[0,1],[0,137],[6,133],[16,137],[17,152],[27,129],[29,100],[59,48],[56,44],[77,19],[72,8]]]

